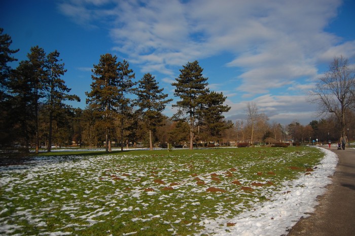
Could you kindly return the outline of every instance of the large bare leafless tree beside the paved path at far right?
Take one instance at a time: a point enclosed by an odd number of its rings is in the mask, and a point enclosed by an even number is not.
[[[353,108],[355,77],[347,58],[334,57],[329,70],[309,92],[309,102],[318,105],[319,115],[333,113],[345,137],[345,111]]]

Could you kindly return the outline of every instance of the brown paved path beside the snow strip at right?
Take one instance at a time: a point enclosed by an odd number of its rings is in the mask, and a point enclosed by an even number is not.
[[[355,236],[355,150],[332,147],[339,162],[332,184],[309,217],[301,219],[288,236]]]

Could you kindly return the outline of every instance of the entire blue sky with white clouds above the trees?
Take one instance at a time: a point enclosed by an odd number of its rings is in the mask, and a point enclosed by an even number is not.
[[[136,81],[155,76],[170,84],[198,60],[210,90],[223,92],[235,122],[248,102],[270,122],[318,120],[307,91],[334,56],[355,62],[352,0],[3,0],[0,27],[26,59],[32,46],[60,52],[63,79],[85,108],[91,69],[101,54],[126,59]],[[14,64],[16,66],[16,64]],[[165,114],[175,110],[168,106]]]

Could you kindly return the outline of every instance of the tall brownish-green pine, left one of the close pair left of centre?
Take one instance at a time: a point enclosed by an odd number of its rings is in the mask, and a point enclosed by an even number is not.
[[[117,56],[109,53],[101,55],[99,63],[94,65],[92,70],[91,91],[86,92],[88,96],[86,103],[96,113],[95,116],[102,117],[101,123],[105,128],[105,147],[111,152],[111,129],[115,113],[121,107],[121,90],[119,66]]]

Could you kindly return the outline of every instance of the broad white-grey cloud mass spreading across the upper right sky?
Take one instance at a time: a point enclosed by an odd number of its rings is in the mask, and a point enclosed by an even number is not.
[[[311,113],[312,105],[301,93],[319,77],[319,63],[339,54],[355,56],[355,41],[345,42],[325,31],[341,4],[341,0],[67,0],[59,9],[80,24],[105,22],[115,51],[126,54],[142,73],[167,76],[162,78],[167,83],[187,61],[228,53],[232,59],[227,69],[216,70],[236,69],[235,81],[209,80],[210,88],[224,90],[233,99],[256,97],[261,111],[285,118]],[[277,88],[300,95],[269,94]],[[245,110],[245,101],[228,102],[229,114]]]

